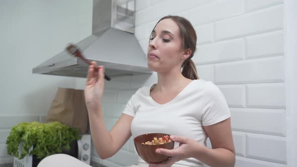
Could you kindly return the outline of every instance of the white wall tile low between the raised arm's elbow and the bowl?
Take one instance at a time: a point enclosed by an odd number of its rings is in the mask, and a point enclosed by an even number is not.
[[[122,165],[132,165],[137,163],[138,155],[135,153],[127,152],[124,150],[119,150],[114,155],[114,160]]]

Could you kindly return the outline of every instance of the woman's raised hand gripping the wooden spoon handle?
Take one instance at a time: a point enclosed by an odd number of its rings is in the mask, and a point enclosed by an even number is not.
[[[98,66],[96,70],[96,66],[97,62],[92,61],[85,86],[85,101],[88,107],[99,105],[104,92],[104,67]]]

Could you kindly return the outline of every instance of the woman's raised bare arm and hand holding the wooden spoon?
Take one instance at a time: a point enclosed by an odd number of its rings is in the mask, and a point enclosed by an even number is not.
[[[114,127],[107,131],[103,122],[101,99],[104,92],[104,68],[95,61],[89,66],[85,87],[85,101],[89,114],[93,144],[101,159],[113,156],[130,138],[133,117],[123,114]],[[107,111],[108,112],[108,111]]]

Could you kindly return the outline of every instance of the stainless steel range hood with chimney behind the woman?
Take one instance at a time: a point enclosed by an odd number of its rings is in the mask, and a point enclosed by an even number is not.
[[[94,0],[92,35],[76,43],[84,56],[105,66],[109,76],[150,74],[134,36],[134,1]],[[61,51],[33,68],[33,73],[86,77],[88,64]]]

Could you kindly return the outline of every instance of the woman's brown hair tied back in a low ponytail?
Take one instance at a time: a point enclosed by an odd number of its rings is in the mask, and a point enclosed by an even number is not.
[[[180,29],[180,36],[182,38],[182,48],[189,48],[192,51],[191,55],[182,64],[182,74],[184,75],[184,77],[189,79],[199,79],[195,63],[191,59],[194,56],[194,52],[196,50],[197,35],[195,29],[187,19],[180,16],[165,16],[162,19],[160,19],[158,23],[164,19],[172,19],[178,25]]]

